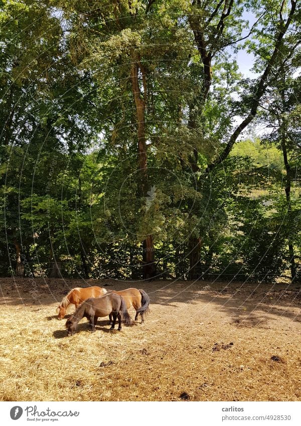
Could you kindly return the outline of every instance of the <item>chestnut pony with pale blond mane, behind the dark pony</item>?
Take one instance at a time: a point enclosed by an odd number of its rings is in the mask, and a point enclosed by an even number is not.
[[[75,308],[78,308],[84,300],[88,298],[98,298],[106,293],[106,289],[97,286],[87,287],[85,289],[81,289],[80,287],[72,289],[57,308],[59,310],[58,320],[62,320],[65,317],[69,305],[72,304],[75,305]]]

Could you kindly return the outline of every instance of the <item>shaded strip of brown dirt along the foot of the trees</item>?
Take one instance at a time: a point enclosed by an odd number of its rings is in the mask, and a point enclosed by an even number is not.
[[[0,287],[1,305],[24,305],[27,309],[43,311],[44,307],[60,302],[72,288],[110,286],[112,290],[129,287],[143,288],[151,304],[177,308],[177,315],[188,304],[200,304],[200,310],[215,309],[226,313],[237,327],[264,328],[277,316],[301,322],[300,287],[286,284],[209,282],[209,281],[114,281],[114,280],[71,280],[44,278],[2,278]],[[183,304],[183,305],[182,305]],[[179,309],[181,308],[181,309]],[[72,305],[69,310],[74,311]],[[70,316],[70,311],[65,320]],[[55,313],[55,308],[54,308]],[[201,315],[201,313],[200,313]],[[53,320],[57,316],[48,316]],[[63,320],[64,321],[64,320]],[[85,324],[79,325],[85,327]],[[85,328],[84,328],[85,329]],[[61,338],[61,331],[58,331]],[[54,335],[56,337],[56,335]]]

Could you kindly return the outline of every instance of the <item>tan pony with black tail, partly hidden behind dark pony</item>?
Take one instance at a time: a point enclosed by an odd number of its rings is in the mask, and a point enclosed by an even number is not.
[[[122,296],[126,303],[126,308],[129,309],[131,306],[136,311],[135,321],[138,319],[138,315],[141,316],[141,324],[144,323],[143,315],[147,315],[149,311],[149,297],[144,290],[137,289],[126,289],[119,292],[115,290],[109,290],[109,293],[115,293],[116,295]],[[109,324],[112,324],[112,316],[109,315]]]

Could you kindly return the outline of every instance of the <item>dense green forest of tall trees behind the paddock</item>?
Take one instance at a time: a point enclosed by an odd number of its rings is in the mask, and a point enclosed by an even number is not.
[[[0,276],[299,282],[300,24],[0,0]]]

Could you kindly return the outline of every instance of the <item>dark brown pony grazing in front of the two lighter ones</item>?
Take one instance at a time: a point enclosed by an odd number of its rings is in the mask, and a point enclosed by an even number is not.
[[[98,317],[106,317],[107,315],[113,316],[113,323],[111,330],[115,328],[116,319],[118,318],[118,330],[121,330],[121,321],[126,325],[132,325],[132,320],[126,309],[126,303],[123,297],[114,293],[107,293],[100,298],[89,298],[85,300],[68,318],[66,328],[68,329],[68,336],[72,336],[76,329],[78,322],[86,317],[91,325],[91,332],[95,332],[95,325]]]

